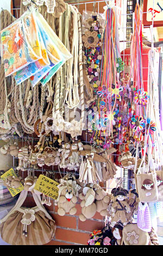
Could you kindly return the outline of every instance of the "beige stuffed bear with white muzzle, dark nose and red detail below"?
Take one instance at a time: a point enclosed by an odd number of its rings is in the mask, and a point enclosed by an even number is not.
[[[70,215],[75,215],[77,212],[77,208],[75,207],[77,203],[77,197],[74,196],[72,180],[65,181],[61,186],[58,186],[58,214],[60,216],[64,216],[66,212],[69,212]]]

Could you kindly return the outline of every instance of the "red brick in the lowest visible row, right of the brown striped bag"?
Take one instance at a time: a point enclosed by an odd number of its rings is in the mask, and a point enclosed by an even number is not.
[[[87,245],[90,235],[86,233],[81,233],[78,231],[66,230],[57,228],[55,232],[55,238],[58,240],[69,241],[78,243],[81,245]]]

